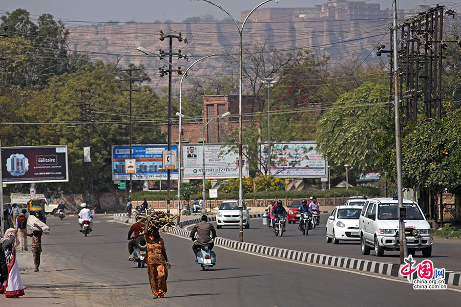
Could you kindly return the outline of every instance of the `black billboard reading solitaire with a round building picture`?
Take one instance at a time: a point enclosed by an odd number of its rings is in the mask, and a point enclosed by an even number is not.
[[[2,147],[4,184],[69,181],[67,145]]]

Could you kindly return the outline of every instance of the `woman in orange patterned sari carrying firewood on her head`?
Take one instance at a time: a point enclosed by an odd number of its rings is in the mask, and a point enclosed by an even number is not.
[[[159,298],[163,297],[166,293],[166,278],[171,266],[170,262],[168,262],[165,245],[158,229],[155,227],[148,229],[151,219],[151,217],[148,218],[144,227],[147,253],[143,261],[148,265],[149,282],[151,283],[153,298]]]

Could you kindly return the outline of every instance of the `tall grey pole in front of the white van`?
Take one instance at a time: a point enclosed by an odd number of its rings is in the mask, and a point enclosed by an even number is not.
[[[397,217],[399,218],[399,238],[400,238],[400,263],[404,264],[404,258],[408,257],[407,239],[405,236],[405,223],[406,217],[405,208],[403,206],[403,192],[402,192],[402,143],[400,139],[400,115],[399,115],[399,63],[397,52],[397,1],[392,0],[393,10],[393,56],[394,56],[394,115],[395,115],[395,157],[397,166],[397,202],[398,210]]]

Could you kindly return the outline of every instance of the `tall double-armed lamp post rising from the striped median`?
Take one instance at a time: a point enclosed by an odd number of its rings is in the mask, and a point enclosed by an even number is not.
[[[243,242],[243,159],[242,159],[242,154],[243,154],[243,134],[242,134],[242,31],[243,27],[245,27],[245,23],[248,20],[248,17],[260,6],[274,1],[275,3],[279,3],[282,0],[265,0],[258,4],[253,10],[251,10],[248,15],[246,15],[245,20],[243,20],[243,23],[241,26],[237,23],[235,18],[227,12],[224,8],[221,6],[217,5],[216,3],[213,3],[209,0],[202,0],[204,2],[207,2],[211,5],[214,5],[215,7],[218,7],[221,11],[227,14],[232,21],[234,21],[235,26],[237,27],[237,30],[239,31],[239,207],[240,207],[240,234],[239,234],[239,241]]]

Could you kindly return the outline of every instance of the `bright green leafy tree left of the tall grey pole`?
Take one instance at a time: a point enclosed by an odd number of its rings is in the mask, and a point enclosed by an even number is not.
[[[317,129],[319,150],[328,158],[332,170],[344,169],[358,175],[380,171],[380,146],[376,142],[386,133],[388,88],[365,82],[358,89],[341,95],[323,114]]]

